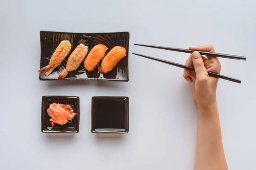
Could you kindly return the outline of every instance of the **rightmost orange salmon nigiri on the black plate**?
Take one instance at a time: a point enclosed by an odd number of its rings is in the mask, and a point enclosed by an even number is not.
[[[126,50],[123,47],[115,46],[108,52],[108,54],[102,60],[102,64],[99,68],[101,73],[107,74],[108,71],[111,71],[116,64],[126,56]]]

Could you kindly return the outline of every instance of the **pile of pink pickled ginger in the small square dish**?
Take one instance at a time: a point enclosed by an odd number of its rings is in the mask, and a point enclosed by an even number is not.
[[[76,116],[76,113],[74,113],[70,105],[59,103],[50,104],[49,108],[47,109],[47,113],[51,117],[49,121],[52,124],[52,127],[54,127],[55,123],[64,125]]]

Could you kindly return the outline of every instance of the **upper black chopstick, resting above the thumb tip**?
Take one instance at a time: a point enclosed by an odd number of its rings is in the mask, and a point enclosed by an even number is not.
[[[134,44],[134,45],[150,47],[150,48],[159,48],[159,49],[170,50],[170,51],[178,51],[178,52],[183,52],[183,53],[193,53],[194,52],[194,50],[188,50],[188,49],[183,49],[183,48],[161,47],[161,46],[143,45],[143,44]],[[236,56],[236,55],[221,54],[221,53],[211,53],[211,52],[206,52],[206,51],[198,51],[198,52],[201,55],[206,55],[206,56],[222,57],[222,58],[228,58],[228,59],[239,59],[239,60],[244,60],[244,61],[246,60],[246,57],[244,57],[244,56]]]

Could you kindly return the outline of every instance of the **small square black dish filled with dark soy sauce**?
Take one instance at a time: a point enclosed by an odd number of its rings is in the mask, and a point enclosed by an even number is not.
[[[91,132],[128,133],[129,98],[122,96],[93,96]]]

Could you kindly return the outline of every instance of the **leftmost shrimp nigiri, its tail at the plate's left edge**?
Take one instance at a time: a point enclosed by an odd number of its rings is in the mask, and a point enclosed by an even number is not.
[[[50,59],[49,65],[41,68],[38,72],[42,73],[46,71],[45,76],[49,76],[54,68],[58,67],[61,62],[67,57],[71,50],[71,44],[68,40],[63,40],[55,49]]]

